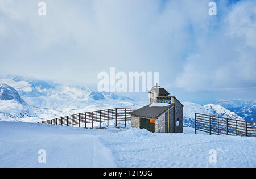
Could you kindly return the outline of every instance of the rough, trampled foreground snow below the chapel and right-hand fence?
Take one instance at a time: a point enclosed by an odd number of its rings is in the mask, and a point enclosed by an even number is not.
[[[133,130],[131,135],[110,134],[102,139],[117,156],[118,167],[256,166],[255,138]],[[211,149],[217,151],[217,163],[208,161]]]

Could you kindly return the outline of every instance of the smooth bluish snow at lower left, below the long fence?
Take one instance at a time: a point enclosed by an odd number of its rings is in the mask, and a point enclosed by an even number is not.
[[[0,129],[0,167],[116,167],[98,137],[75,127],[0,122]],[[40,149],[46,163],[38,163]]]

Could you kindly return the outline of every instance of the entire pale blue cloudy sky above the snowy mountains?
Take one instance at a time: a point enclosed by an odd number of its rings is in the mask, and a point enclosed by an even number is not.
[[[0,73],[81,84],[158,71],[181,100],[256,99],[256,1],[0,0]]]

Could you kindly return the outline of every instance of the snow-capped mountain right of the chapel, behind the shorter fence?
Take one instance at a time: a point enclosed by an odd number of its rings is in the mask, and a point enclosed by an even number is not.
[[[225,109],[220,105],[207,104],[202,106],[187,101],[183,102],[182,104],[184,105],[183,123],[185,127],[192,127],[195,125],[195,113],[243,120],[243,118],[238,116],[236,113],[231,112],[230,110]]]

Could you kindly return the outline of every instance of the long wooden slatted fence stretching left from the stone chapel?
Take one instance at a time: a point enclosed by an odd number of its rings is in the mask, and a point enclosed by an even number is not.
[[[93,112],[73,114],[66,117],[59,117],[39,123],[73,127],[84,126],[85,128],[89,123],[93,128],[95,123],[98,123],[99,127],[102,127],[102,123],[104,123],[105,126],[109,126],[109,120],[115,120],[115,126],[117,126],[118,121],[123,121],[126,127],[126,123],[131,121],[131,116],[128,113],[133,112],[134,110],[135,109],[129,108],[97,110]]]

